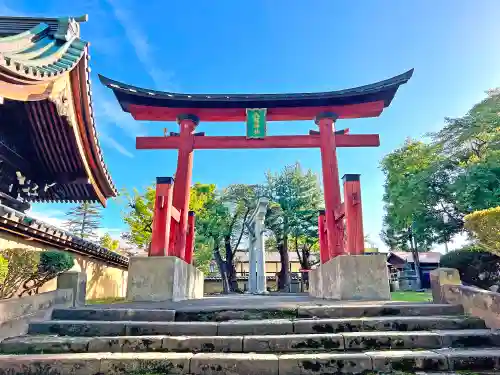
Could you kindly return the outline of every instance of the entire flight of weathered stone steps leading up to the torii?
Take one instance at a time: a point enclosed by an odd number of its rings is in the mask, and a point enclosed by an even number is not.
[[[0,374],[498,373],[500,331],[462,314],[452,305],[356,302],[55,309],[29,335],[0,343]]]

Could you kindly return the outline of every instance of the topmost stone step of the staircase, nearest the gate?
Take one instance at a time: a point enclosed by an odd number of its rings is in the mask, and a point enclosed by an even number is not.
[[[299,306],[297,308],[185,308],[167,309],[129,309],[129,308],[70,308],[55,309],[52,318],[56,320],[111,320],[111,321],[204,321],[221,322],[228,320],[262,319],[304,319],[304,318],[361,318],[375,316],[432,316],[460,315],[461,306],[438,304],[355,304]]]

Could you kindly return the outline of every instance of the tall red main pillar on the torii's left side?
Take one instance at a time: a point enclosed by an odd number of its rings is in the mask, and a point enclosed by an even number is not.
[[[180,220],[178,225],[175,225],[172,255],[184,259],[188,234],[189,193],[193,173],[193,132],[199,120],[196,116],[184,115],[179,116],[177,122],[180,126],[180,146],[175,172],[173,204],[180,212]]]

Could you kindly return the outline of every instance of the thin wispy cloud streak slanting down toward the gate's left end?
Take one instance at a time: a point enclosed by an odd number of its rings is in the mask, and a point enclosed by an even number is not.
[[[111,6],[113,13],[123,26],[127,38],[134,47],[137,58],[144,66],[156,87],[160,90],[167,90],[172,86],[173,73],[161,69],[156,65],[156,57],[154,49],[148,40],[147,35],[138,25],[137,17],[134,17],[131,12],[124,6],[123,0],[107,0]]]

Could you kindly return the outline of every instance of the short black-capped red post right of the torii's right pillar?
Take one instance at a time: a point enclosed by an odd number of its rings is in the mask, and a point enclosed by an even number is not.
[[[361,185],[359,174],[346,174],[344,181],[344,212],[346,221],[346,252],[364,254],[363,212],[361,210]]]

